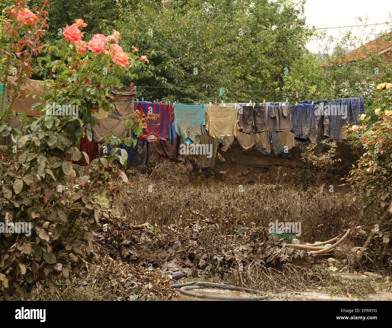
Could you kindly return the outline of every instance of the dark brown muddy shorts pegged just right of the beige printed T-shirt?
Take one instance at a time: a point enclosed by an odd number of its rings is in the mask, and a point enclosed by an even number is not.
[[[245,105],[241,106],[238,127],[243,133],[261,133],[267,131],[265,121],[265,105]]]

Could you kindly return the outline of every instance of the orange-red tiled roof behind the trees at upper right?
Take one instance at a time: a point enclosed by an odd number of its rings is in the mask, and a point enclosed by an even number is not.
[[[349,63],[351,61],[357,61],[357,60],[362,60],[368,57],[370,54],[378,54],[381,55],[385,52],[388,52],[392,49],[392,40],[391,40],[392,34],[387,34],[387,36],[377,38],[376,40],[370,41],[365,43],[364,45],[361,45],[361,47],[352,50],[350,52],[347,52],[341,57],[338,57],[336,59],[332,59],[332,61],[329,63],[329,65],[334,65],[335,63]],[[320,66],[326,66],[328,63],[323,63]]]

